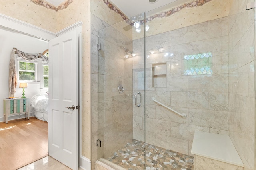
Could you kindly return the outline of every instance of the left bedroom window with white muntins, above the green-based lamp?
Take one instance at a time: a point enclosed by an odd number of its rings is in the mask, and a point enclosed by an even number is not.
[[[19,80],[36,80],[36,64],[19,61]]]

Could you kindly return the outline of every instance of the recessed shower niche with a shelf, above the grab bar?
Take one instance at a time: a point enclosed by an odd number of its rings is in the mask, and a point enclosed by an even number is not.
[[[155,88],[167,88],[167,64],[156,63],[152,65],[153,86]]]

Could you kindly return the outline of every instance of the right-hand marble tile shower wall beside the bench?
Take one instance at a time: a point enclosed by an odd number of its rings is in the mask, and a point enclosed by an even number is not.
[[[245,170],[255,169],[255,39],[253,0],[232,0],[228,16],[229,133]]]

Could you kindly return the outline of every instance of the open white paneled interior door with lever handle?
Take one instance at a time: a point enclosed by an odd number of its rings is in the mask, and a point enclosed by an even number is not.
[[[78,34],[49,41],[49,155],[78,170]],[[66,107],[72,107],[68,109]]]

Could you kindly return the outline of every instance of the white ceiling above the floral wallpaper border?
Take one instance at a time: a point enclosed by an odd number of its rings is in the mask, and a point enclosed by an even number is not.
[[[65,0],[46,0],[54,6],[60,5]],[[184,3],[188,0],[156,0],[156,2],[149,2],[149,0],[111,0],[128,18],[140,14],[142,12],[148,12],[160,6],[164,6],[171,2]]]

